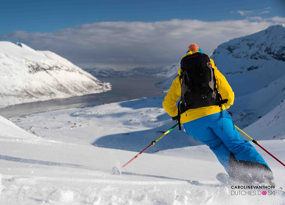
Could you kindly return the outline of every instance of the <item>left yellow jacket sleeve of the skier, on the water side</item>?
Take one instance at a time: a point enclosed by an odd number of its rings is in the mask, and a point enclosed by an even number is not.
[[[164,98],[164,101],[162,102],[162,106],[164,110],[170,115],[171,117],[175,117],[178,115],[176,103],[180,98],[180,94],[178,92],[178,84],[179,83],[179,76],[177,76],[174,81],[172,82],[172,85],[167,93],[167,95]],[[180,91],[180,90],[179,90]]]

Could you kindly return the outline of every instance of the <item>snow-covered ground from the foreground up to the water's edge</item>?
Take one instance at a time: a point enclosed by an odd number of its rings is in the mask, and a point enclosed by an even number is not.
[[[127,165],[121,176],[112,175],[112,167],[127,163],[173,125],[161,107],[162,99],[142,98],[10,118],[26,129],[34,125],[31,130],[38,136],[1,117],[3,131],[15,134],[0,134],[4,187],[0,204],[285,203],[277,195],[233,196],[230,186],[212,186],[219,183],[215,175],[225,172],[223,167],[207,146],[198,145],[178,129]],[[91,145],[94,142],[100,145]],[[198,146],[190,146],[195,142]],[[284,140],[258,142],[285,161]],[[151,154],[157,149],[161,151]],[[282,165],[256,149],[272,169],[276,188],[284,186]]]

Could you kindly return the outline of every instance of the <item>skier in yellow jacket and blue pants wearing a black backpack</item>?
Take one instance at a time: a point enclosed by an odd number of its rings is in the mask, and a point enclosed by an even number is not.
[[[191,44],[180,64],[162,103],[165,111],[179,122],[179,129],[183,123],[188,135],[210,147],[232,180],[274,185],[271,169],[233,125],[227,109],[233,105],[234,92],[214,61]]]

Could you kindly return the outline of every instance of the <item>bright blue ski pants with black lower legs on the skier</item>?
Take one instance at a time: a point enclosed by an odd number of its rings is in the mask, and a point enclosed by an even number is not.
[[[188,135],[210,147],[230,176],[235,175],[231,172],[239,170],[237,166],[245,167],[245,165],[248,165],[249,169],[257,167],[264,170],[265,168],[266,171],[271,172],[257,150],[239,135],[231,115],[225,110],[183,123],[183,126]]]

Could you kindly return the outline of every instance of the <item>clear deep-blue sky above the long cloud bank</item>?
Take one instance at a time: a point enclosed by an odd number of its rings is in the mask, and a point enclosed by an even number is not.
[[[13,30],[53,32],[85,23],[101,21],[168,21],[199,19],[221,21],[243,19],[231,11],[262,10],[270,7],[264,17],[284,17],[282,0],[236,1],[2,1],[1,33]],[[282,7],[283,6],[283,7]]]

